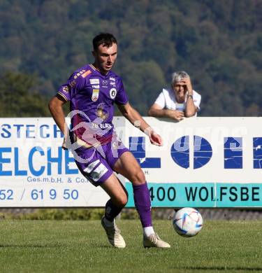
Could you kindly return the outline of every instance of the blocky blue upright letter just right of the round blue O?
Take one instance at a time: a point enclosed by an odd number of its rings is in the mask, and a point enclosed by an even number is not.
[[[242,137],[224,137],[224,168],[242,169]]]

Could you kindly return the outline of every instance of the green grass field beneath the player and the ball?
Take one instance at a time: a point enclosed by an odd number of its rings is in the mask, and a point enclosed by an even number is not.
[[[262,272],[261,221],[207,221],[194,238],[154,221],[170,249],[143,248],[139,221],[117,223],[124,249],[100,221],[0,221],[0,272]]]

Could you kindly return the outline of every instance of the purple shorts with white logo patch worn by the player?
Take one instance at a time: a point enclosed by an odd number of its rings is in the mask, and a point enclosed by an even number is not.
[[[86,148],[75,156],[78,169],[94,186],[100,186],[113,173],[115,162],[129,151],[122,141],[115,139],[105,145]]]

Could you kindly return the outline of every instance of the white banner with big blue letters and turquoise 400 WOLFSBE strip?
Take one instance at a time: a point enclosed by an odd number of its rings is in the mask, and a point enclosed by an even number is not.
[[[125,140],[143,167],[152,207],[262,206],[262,118],[145,120],[163,146],[130,125]]]

